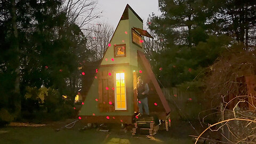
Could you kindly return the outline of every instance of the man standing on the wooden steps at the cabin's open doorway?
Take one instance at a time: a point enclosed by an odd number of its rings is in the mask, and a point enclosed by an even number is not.
[[[143,83],[143,79],[139,76],[138,83],[136,86],[137,89],[137,103],[139,107],[139,113],[143,115],[143,108],[145,109],[146,115],[149,115],[149,108],[148,108],[148,93],[149,87],[147,83]]]

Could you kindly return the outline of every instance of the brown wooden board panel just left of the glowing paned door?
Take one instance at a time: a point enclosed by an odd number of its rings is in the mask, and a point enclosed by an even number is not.
[[[109,75],[111,74],[111,75]],[[99,101],[98,106],[100,112],[111,112],[115,110],[114,105],[114,79],[113,71],[98,71],[98,84],[99,84]],[[109,104],[112,102],[112,105]]]

